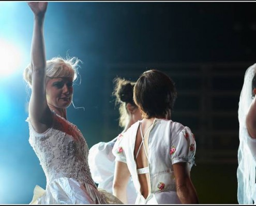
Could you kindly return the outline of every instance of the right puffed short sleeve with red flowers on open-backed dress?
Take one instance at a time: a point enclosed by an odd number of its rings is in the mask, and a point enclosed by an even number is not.
[[[188,127],[184,127],[182,131],[172,137],[170,149],[172,164],[188,162],[192,166],[194,164],[195,149],[194,135]]]

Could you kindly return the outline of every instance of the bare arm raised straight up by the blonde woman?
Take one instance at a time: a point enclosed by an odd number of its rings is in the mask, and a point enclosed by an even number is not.
[[[44,15],[48,3],[28,2],[27,4],[34,13],[31,46],[32,94],[29,101],[29,117],[35,130],[41,133],[51,124],[51,111],[46,99],[46,52],[43,36]]]

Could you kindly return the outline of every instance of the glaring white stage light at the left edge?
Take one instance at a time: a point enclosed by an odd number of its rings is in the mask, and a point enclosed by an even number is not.
[[[16,72],[20,64],[21,52],[19,48],[0,39],[0,78]]]

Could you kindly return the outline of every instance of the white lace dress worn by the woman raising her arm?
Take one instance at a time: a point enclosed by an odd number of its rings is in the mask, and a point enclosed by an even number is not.
[[[76,125],[53,113],[53,125],[38,133],[29,118],[29,143],[47,178],[46,190],[36,185],[30,204],[122,204],[97,190],[89,170],[88,146]]]

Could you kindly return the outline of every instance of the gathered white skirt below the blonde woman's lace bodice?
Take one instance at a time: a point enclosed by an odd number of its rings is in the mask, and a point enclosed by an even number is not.
[[[43,190],[36,185],[29,204],[123,204],[111,193],[97,190],[90,184],[81,184],[72,178],[54,179]]]

